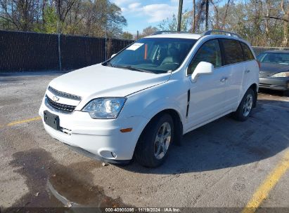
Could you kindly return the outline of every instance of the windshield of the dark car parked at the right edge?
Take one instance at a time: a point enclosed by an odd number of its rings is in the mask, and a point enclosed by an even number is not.
[[[257,59],[262,63],[289,64],[289,53],[262,53]]]

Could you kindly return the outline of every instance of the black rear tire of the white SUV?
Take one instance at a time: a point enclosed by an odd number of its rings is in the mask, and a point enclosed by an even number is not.
[[[248,97],[252,99],[250,111],[244,110],[245,104],[247,103]],[[237,121],[246,121],[250,115],[252,114],[252,109],[254,106],[254,101],[255,101],[255,92],[249,88],[247,92],[245,93],[242,101],[240,102],[238,109],[233,112],[232,116],[235,120]]]

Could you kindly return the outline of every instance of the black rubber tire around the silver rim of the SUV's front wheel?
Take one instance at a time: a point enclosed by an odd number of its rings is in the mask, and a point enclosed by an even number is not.
[[[155,148],[156,144],[160,142],[156,142],[156,138],[159,131],[165,125],[165,129],[167,129],[167,123],[170,126],[171,134],[170,139],[165,139],[165,144],[169,144],[167,147],[167,151],[164,152],[164,156],[158,159],[155,156]],[[153,118],[150,123],[146,126],[139,138],[138,144],[136,144],[136,149],[134,151],[134,156],[139,164],[145,167],[158,167],[164,163],[165,159],[167,158],[167,152],[169,151],[169,147],[173,143],[174,138],[174,122],[172,120],[172,116],[169,114],[162,114]],[[159,145],[160,146],[160,145]],[[157,151],[158,153],[158,151]],[[160,156],[158,156],[160,157]]]

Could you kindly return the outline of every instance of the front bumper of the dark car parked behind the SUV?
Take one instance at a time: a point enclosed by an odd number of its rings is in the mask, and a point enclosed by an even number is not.
[[[259,88],[289,90],[289,78],[259,78]]]

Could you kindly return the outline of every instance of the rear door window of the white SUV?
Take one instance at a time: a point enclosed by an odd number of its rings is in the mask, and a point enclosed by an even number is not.
[[[243,50],[240,43],[233,39],[221,39],[224,47],[226,64],[243,62]]]

